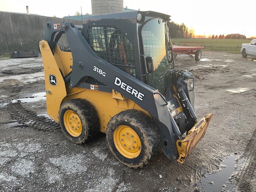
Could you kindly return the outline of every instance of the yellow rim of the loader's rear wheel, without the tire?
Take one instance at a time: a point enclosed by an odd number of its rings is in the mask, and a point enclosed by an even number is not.
[[[71,136],[80,136],[82,133],[82,123],[79,116],[73,110],[66,110],[63,120],[66,130]]]

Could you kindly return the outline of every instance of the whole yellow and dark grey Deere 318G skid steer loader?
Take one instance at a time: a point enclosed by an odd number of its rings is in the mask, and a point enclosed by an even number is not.
[[[174,68],[169,20],[134,11],[88,16],[83,26],[47,23],[39,43],[47,113],[68,140],[106,133],[110,151],[131,168],[160,150],[184,163],[212,114],[196,117],[194,78]]]

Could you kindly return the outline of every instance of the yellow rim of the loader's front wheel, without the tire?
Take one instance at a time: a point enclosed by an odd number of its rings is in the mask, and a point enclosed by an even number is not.
[[[141,142],[138,134],[129,126],[121,125],[114,131],[114,144],[120,154],[128,159],[139,156]]]

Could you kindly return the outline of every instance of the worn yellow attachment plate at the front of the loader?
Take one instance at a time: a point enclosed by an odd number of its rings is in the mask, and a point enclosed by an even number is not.
[[[185,162],[186,158],[195,148],[196,144],[204,137],[212,115],[213,113],[206,115],[188,131],[188,134],[184,139],[176,141],[178,150],[177,161],[179,163],[183,164]]]

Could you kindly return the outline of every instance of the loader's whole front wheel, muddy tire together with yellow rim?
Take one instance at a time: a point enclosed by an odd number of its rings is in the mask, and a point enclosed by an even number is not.
[[[137,110],[126,110],[112,117],[108,122],[106,140],[114,156],[130,168],[141,168],[159,152],[156,125]]]

